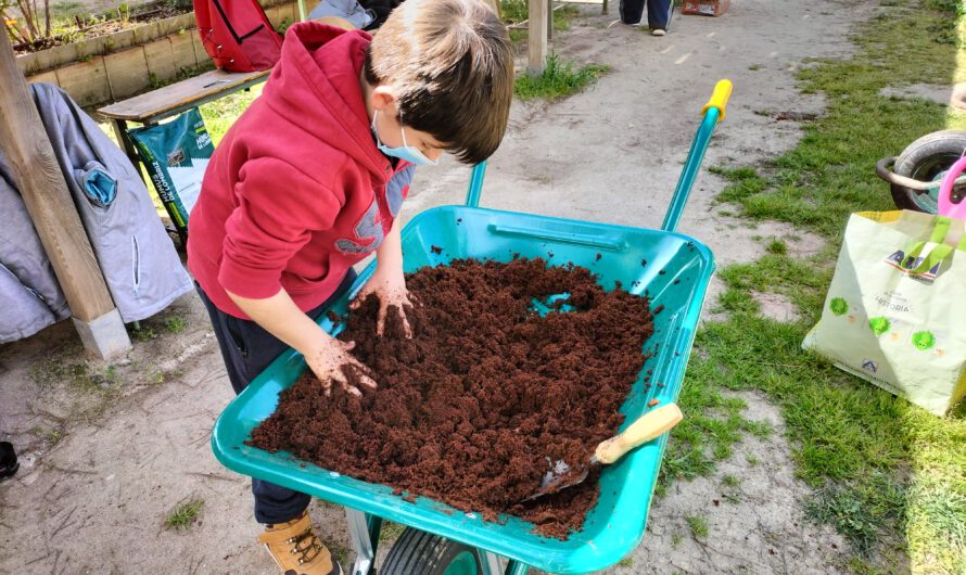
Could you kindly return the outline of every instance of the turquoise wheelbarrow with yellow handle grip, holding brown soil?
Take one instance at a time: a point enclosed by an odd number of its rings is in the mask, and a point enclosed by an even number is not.
[[[403,230],[405,271],[445,266],[454,258],[509,261],[516,254],[536,258],[552,252],[551,265],[585,266],[608,290],[620,281],[632,293],[646,293],[656,311],[654,334],[649,342],[641,342],[649,359],[621,407],[626,416],[624,426],[641,416],[653,399],[662,405],[675,401],[714,259],[708,247],[674,230],[714,126],[724,117],[730,91],[729,81],[720,81],[704,106],[703,120],[660,230],[478,207],[484,163],[473,167],[465,206],[429,209]],[[332,311],[347,314],[349,301],[373,270],[374,263],[359,274]],[[331,320],[323,319],[321,325],[338,334]],[[218,418],[212,448],[218,461],[232,471],[343,506],[356,552],[353,575],[374,573],[383,520],[405,525],[406,529],[380,567],[381,575],[523,575],[531,567],[560,574],[588,573],[620,561],[644,535],[666,434],[605,469],[600,499],[583,529],[561,541],[534,534],[534,525],[517,518],[494,523],[425,497],[406,501],[402,495],[393,495],[390,486],[296,461],[288,452],[269,453],[246,446],[252,430],[275,411],[279,392],[292,385],[304,370],[300,354],[282,354]],[[652,381],[663,385],[645,388],[644,373],[648,371]]]

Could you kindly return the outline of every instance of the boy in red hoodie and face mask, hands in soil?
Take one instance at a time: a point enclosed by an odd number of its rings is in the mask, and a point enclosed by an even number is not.
[[[374,252],[359,299],[409,305],[399,223],[416,165],[488,157],[513,90],[506,29],[483,0],[408,0],[376,37],[292,26],[262,98],[212,157],[189,222],[188,267],[236,393],[287,347],[327,392],[358,362],[316,320]],[[405,320],[405,317],[404,317]],[[408,329],[408,325],[407,325]],[[377,382],[365,380],[374,387]],[[287,574],[341,566],[313,532],[309,496],[253,480],[259,540]]]

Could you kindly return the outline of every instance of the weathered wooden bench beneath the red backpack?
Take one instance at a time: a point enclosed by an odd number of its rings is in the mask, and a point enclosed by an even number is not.
[[[165,118],[198,107],[206,102],[251,88],[268,79],[271,71],[230,73],[220,69],[158,88],[141,95],[104,106],[98,112],[111,122],[117,142],[131,163],[140,163],[137,149],[127,135],[127,123],[153,126]]]

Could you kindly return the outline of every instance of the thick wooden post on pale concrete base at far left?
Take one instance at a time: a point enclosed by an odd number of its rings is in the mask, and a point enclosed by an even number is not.
[[[5,34],[0,40],[0,145],[85,347],[102,358],[130,348],[50,139]]]

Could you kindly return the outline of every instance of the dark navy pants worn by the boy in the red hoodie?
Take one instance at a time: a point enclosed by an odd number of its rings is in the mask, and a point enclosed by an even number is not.
[[[349,269],[335,293],[320,306],[308,311],[308,317],[318,319],[332,302],[348,291],[355,279],[356,272]],[[239,319],[221,311],[208,299],[198,283],[194,286],[212,318],[215,337],[218,340],[225,368],[228,370],[228,381],[231,382],[234,393],[240,394],[289,346],[254,321]],[[308,495],[254,477],[252,494],[255,496],[255,520],[258,523],[291,521],[305,511],[312,499]]]

